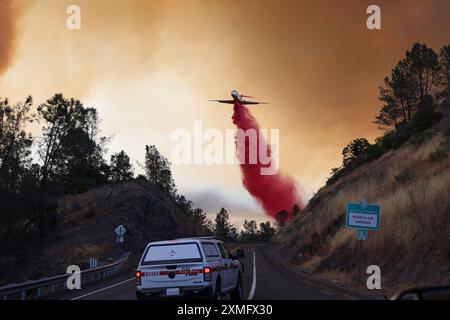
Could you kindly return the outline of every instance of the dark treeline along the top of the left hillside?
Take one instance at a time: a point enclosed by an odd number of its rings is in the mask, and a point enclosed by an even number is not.
[[[124,151],[105,159],[108,138],[99,133],[96,109],[62,94],[36,112],[32,108],[31,97],[16,105],[0,98],[0,252],[58,228],[61,197],[135,179]],[[40,137],[29,132],[33,123],[41,126]],[[206,224],[206,214],[177,193],[170,163],[155,146],[145,147],[144,170],[136,179],[159,186],[182,211]]]

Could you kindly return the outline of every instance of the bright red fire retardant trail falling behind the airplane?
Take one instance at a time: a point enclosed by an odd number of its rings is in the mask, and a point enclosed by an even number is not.
[[[238,129],[244,131],[248,129],[254,129],[259,132],[259,125],[256,119],[251,115],[250,111],[239,102],[234,104],[233,123]],[[267,145],[267,141],[261,138],[259,134],[257,145],[259,147]],[[291,218],[292,207],[297,204],[301,209],[304,207],[304,203],[300,197],[299,190],[295,182],[289,178],[282,176],[280,173],[274,175],[262,175],[261,168],[270,167],[270,164],[265,165],[260,163],[259,156],[256,164],[249,163],[249,141],[245,139],[245,163],[242,163],[242,183],[248,192],[255,197],[262,205],[267,214],[276,218],[278,212],[286,210],[288,212],[288,220]],[[237,152],[239,153],[238,144],[244,141],[238,141],[236,139]],[[267,145],[267,155],[271,155],[270,146]],[[238,154],[239,156],[239,154]]]

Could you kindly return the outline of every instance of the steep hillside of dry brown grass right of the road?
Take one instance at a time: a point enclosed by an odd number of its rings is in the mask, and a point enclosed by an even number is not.
[[[380,266],[385,292],[450,283],[450,157],[436,159],[435,152],[450,145],[448,104],[440,111],[443,118],[426,139],[411,139],[319,190],[277,234],[272,254],[305,272],[364,288],[356,231],[345,227],[345,214],[348,202],[367,199],[381,205],[381,229],[362,242],[362,265]]]

